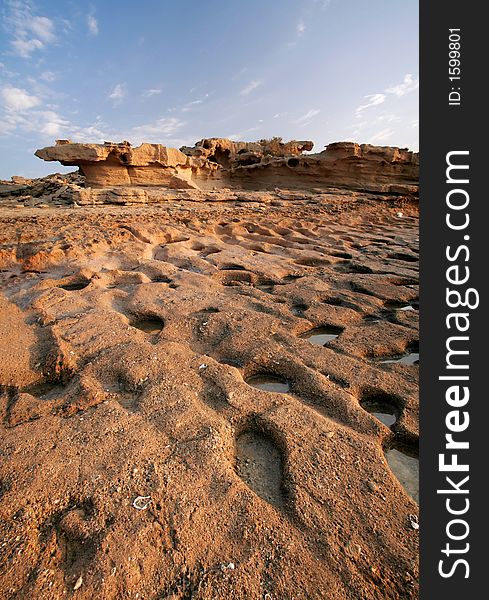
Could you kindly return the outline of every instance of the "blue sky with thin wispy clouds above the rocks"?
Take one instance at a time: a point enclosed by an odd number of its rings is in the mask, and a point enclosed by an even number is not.
[[[0,178],[67,170],[57,138],[418,149],[418,0],[0,6]]]

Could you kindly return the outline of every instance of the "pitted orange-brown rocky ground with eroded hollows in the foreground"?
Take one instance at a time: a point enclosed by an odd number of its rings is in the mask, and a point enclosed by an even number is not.
[[[0,231],[1,598],[417,597],[415,205],[6,208]]]

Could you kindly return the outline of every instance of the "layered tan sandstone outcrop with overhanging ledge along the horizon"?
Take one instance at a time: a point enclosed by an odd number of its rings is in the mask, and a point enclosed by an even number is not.
[[[354,142],[329,144],[316,154],[313,142],[281,138],[235,142],[207,138],[180,150],[129,142],[74,144],[58,140],[36,156],[80,168],[94,188],[273,190],[346,188],[373,193],[417,193],[419,156],[407,149]]]

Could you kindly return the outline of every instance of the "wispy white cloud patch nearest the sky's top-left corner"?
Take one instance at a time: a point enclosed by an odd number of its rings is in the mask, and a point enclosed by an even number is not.
[[[36,51],[56,41],[54,21],[35,15],[28,0],[9,0],[6,6],[4,28],[12,36],[13,53],[29,58]]]

